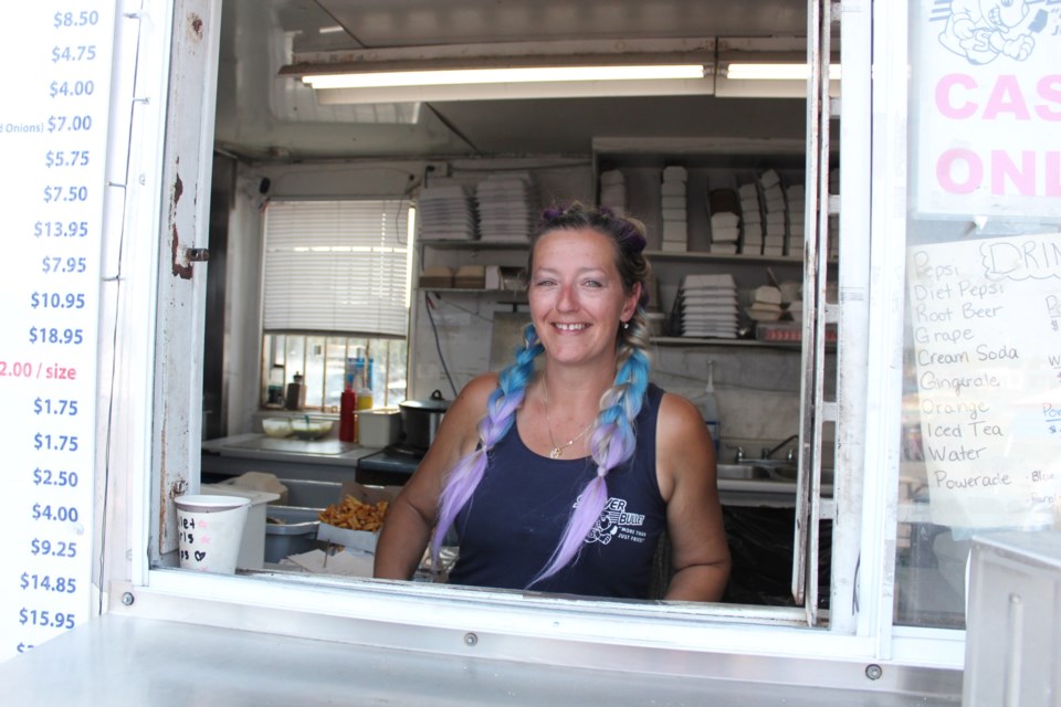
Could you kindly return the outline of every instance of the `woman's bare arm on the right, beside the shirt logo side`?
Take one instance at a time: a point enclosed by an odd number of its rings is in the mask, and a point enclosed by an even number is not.
[[[729,578],[715,447],[696,408],[665,394],[656,423],[656,474],[666,500],[674,576],[664,599],[718,601]]]

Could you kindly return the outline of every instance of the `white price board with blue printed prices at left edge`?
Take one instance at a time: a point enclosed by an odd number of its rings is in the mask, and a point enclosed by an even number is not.
[[[0,661],[92,612],[98,292],[115,3],[6,8]]]

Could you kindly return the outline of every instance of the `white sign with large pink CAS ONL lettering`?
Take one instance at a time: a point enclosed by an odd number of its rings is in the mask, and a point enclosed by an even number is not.
[[[1061,2],[921,0],[911,178],[921,215],[1061,215]]]

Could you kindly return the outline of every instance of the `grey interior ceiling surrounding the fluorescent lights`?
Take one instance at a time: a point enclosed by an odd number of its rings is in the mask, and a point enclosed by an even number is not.
[[[294,51],[540,40],[806,36],[807,0],[224,0],[217,144],[250,160],[588,155],[595,137],[803,137],[803,102],[565,98],[319,106]],[[322,31],[323,30],[323,31]]]

